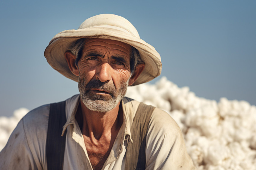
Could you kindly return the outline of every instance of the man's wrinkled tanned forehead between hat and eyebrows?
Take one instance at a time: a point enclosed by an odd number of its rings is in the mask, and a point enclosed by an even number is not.
[[[131,46],[121,41],[102,39],[102,38],[86,38],[83,50],[96,50],[99,52],[111,52],[130,57]]]

